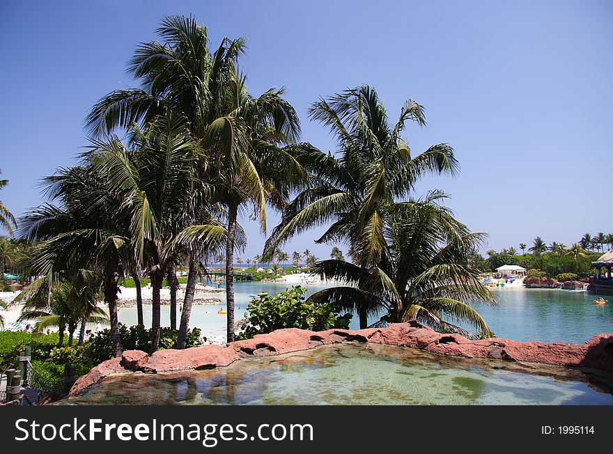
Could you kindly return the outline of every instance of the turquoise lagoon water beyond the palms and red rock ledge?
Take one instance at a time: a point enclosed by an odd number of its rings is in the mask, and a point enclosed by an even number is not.
[[[309,284],[311,295],[325,284]],[[251,295],[267,291],[276,295],[284,291],[286,283],[242,282],[235,283],[235,319],[243,318]],[[584,343],[599,333],[613,333],[613,297],[608,304],[595,306],[593,300],[600,295],[588,292],[557,289],[493,288],[497,297],[495,307],[476,304],[475,307],[488,322],[490,329],[500,338],[513,340],[543,340],[545,342]],[[224,295],[219,295],[224,300]],[[225,301],[224,301],[225,304]],[[217,314],[222,306],[193,306],[190,325],[199,327],[210,338],[219,338],[226,333],[226,317]],[[136,324],[136,308],[124,308],[119,320],[125,324]],[[162,306],[162,322],[169,320],[169,306]],[[377,317],[369,320],[370,323]],[[150,325],[150,311],[145,311],[145,323]],[[357,317],[352,328],[359,327]]]

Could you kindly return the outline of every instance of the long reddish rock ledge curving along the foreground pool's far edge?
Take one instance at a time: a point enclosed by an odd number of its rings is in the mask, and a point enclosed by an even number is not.
[[[391,324],[387,328],[308,331],[279,329],[252,339],[221,345],[203,345],[186,350],[160,350],[149,356],[140,350],[123,352],[80,377],[70,395],[80,393],[109,375],[166,373],[228,366],[248,357],[309,350],[332,343],[381,343],[411,347],[454,357],[545,363],[557,366],[613,371],[613,334],[598,334],[584,344],[518,342],[501,338],[470,340],[459,334],[440,334],[417,322]]]

